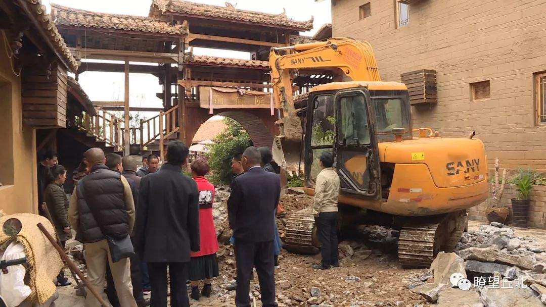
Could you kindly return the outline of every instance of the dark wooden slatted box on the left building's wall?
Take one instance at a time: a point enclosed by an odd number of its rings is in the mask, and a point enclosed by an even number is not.
[[[66,128],[67,71],[61,65],[27,68],[22,76],[23,122],[35,128]]]

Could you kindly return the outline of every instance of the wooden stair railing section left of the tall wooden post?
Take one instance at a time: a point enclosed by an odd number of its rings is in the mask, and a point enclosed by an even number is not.
[[[87,113],[82,113],[82,116],[76,118],[78,128],[86,131],[87,134],[93,135],[98,141],[103,141],[109,146],[114,146],[115,151],[123,151],[123,119],[114,114],[98,110],[96,115],[90,116]]]

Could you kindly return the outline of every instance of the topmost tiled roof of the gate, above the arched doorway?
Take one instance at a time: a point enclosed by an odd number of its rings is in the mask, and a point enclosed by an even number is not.
[[[227,6],[225,7],[220,7],[217,5],[201,4],[182,0],[153,0],[150,7],[150,16],[160,17],[165,15],[165,13],[179,13],[213,17],[215,19],[250,21],[261,25],[290,28],[298,31],[309,31],[313,28],[313,17],[311,17],[311,20],[308,21],[295,21],[289,19],[284,12],[275,15],[257,11],[236,9],[232,4],[227,2],[226,5]]]

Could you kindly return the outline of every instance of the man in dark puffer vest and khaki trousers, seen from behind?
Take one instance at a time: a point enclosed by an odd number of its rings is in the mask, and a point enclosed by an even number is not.
[[[136,307],[129,259],[112,262],[105,238],[105,235],[123,238],[133,231],[135,206],[131,188],[126,178],[104,165],[106,159],[102,149],[89,149],[85,152],[85,158],[91,171],[74,187],[68,218],[76,231],[76,240],[84,243],[87,279],[94,290],[102,295],[108,264],[121,306]],[[87,296],[85,305],[100,306],[91,295]]]

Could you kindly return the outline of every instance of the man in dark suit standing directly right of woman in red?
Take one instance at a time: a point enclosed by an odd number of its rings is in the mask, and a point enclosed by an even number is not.
[[[237,289],[235,305],[250,307],[250,279],[256,267],[263,307],[276,307],[274,269],[275,208],[281,192],[281,181],[275,173],[260,167],[262,155],[248,147],[242,155],[244,174],[232,183],[228,200],[229,225],[235,237]],[[153,304],[152,304],[153,305]]]

